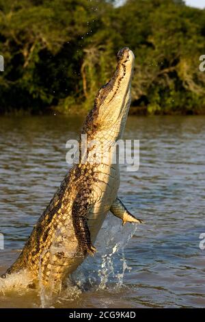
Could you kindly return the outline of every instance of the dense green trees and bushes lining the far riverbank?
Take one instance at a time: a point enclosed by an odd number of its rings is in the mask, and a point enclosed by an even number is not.
[[[205,10],[183,1],[0,0],[0,113],[83,112],[115,69],[136,56],[136,114],[205,112]]]

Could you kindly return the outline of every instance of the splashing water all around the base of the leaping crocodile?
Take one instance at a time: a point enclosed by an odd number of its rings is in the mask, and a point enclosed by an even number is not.
[[[39,264],[38,297],[41,308],[52,308],[54,303],[74,301],[83,290],[118,290],[123,286],[124,273],[131,269],[126,263],[124,249],[137,230],[136,225],[127,224],[122,227],[119,219],[109,214],[96,240],[98,249],[94,257],[88,256],[81,267],[66,281],[64,288],[54,292],[54,288],[47,290],[42,282],[41,264]],[[44,254],[42,254],[43,256]],[[25,293],[32,283],[28,272],[20,271],[0,279],[0,295],[8,290],[18,290],[18,294]],[[51,284],[52,286],[52,284]],[[31,290],[31,289],[30,289]]]

